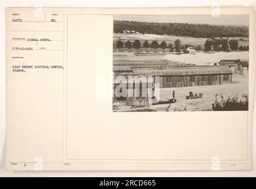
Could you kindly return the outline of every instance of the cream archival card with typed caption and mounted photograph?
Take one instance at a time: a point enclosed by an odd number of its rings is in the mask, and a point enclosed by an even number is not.
[[[7,170],[252,169],[252,8],[5,12]]]

